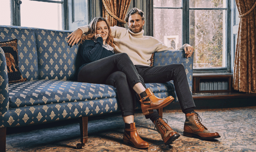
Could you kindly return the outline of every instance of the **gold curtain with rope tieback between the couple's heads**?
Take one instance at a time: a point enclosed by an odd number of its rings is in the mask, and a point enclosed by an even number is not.
[[[124,27],[124,18],[131,0],[102,0],[102,3],[102,16],[108,19],[110,26]]]

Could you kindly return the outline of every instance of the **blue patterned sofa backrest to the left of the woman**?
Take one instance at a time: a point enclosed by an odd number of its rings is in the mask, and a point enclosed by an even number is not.
[[[28,81],[76,80],[81,63],[79,45],[70,47],[67,43],[71,32],[1,25],[0,42],[18,40],[18,66]]]

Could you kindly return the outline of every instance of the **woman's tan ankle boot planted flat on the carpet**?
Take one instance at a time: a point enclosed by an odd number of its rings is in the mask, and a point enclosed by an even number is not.
[[[130,133],[130,135],[129,135],[129,133]],[[135,148],[148,148],[149,147],[148,142],[142,140],[139,137],[139,134],[135,127],[135,123],[130,123],[130,129],[124,129],[123,142],[125,144],[130,143]]]

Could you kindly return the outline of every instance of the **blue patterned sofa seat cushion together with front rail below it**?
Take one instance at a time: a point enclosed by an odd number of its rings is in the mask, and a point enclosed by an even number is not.
[[[146,83],[146,87],[150,88],[157,97],[166,98],[174,89],[169,83]],[[41,86],[42,88],[48,86],[50,89],[45,91],[40,88]],[[63,91],[62,96],[55,93],[55,88],[59,87],[68,88]],[[70,89],[72,87],[73,89]],[[72,98],[69,98],[67,94],[71,94],[72,90],[76,90],[74,92],[77,96],[73,92]],[[85,93],[79,95],[83,90]],[[5,120],[0,121],[2,127],[24,126],[120,111],[116,89],[110,85],[36,80],[11,84],[9,93],[10,109],[2,116]],[[37,98],[34,98],[35,96]],[[52,101],[45,100],[46,98]],[[139,107],[139,102],[137,106]]]

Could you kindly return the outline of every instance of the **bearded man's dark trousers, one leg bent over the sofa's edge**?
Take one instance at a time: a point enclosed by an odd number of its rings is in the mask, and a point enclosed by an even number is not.
[[[135,67],[144,83],[164,83],[173,80],[181,109],[195,108],[185,68],[182,64],[152,67],[135,65]]]

